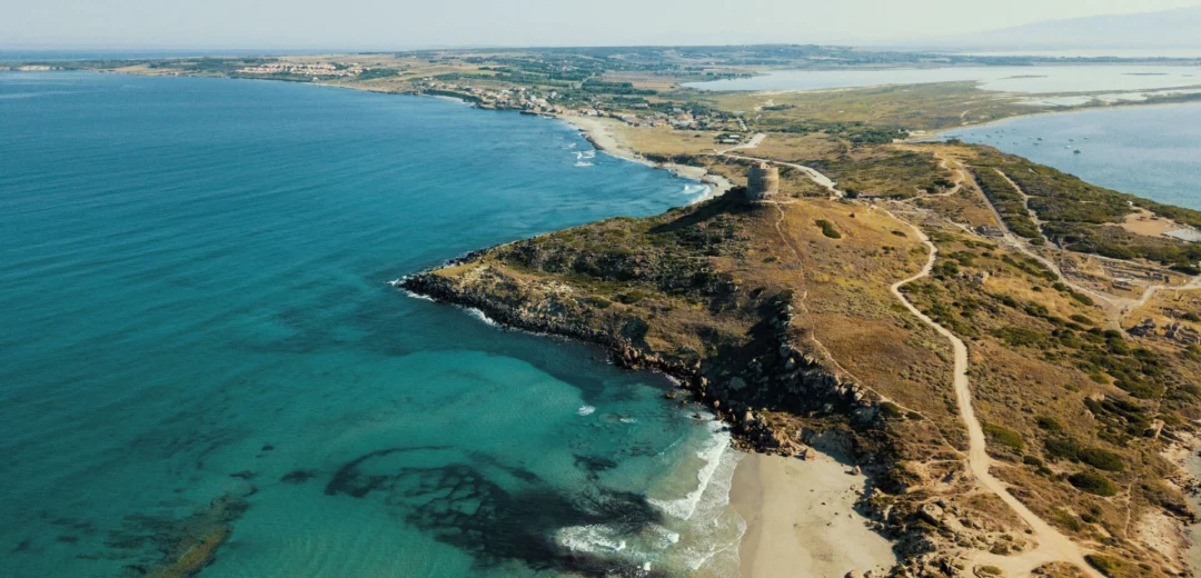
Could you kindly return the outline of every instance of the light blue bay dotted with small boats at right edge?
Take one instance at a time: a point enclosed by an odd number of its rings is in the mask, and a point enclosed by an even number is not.
[[[1093,184],[1201,209],[1201,103],[1046,114],[945,135],[991,144]]]

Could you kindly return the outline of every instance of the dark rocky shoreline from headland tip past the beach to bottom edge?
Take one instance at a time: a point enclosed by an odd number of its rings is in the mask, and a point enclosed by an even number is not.
[[[471,264],[485,251],[468,254],[454,262]],[[856,510],[868,518],[870,526],[894,542],[902,566],[896,576],[957,576],[954,556],[939,538],[942,518],[956,516],[955,508],[933,505],[919,506],[892,499],[907,495],[909,488],[895,467],[898,460],[892,434],[888,431],[883,401],[865,387],[849,383],[829,371],[821,362],[801,351],[789,340],[791,306],[776,302],[775,315],[765,320],[773,328],[776,345],[772,351],[753,358],[734,377],[717,381],[711,360],[685,362],[656,352],[643,351],[621,335],[597,330],[582,320],[548,316],[536,312],[527,303],[494,297],[472,285],[459,285],[447,276],[425,272],[406,278],[401,287],[413,294],[437,303],[477,309],[497,324],[518,330],[578,340],[602,347],[614,364],[631,370],[652,370],[671,376],[687,393],[669,391],[668,399],[683,397],[710,407],[725,423],[737,449],[807,459],[815,455],[813,446],[836,447],[846,455],[854,471],[867,476],[867,485],[856,502]],[[765,419],[745,401],[743,394],[755,388],[771,387],[782,395],[803,400],[803,413],[821,418],[829,428],[781,424]],[[838,427],[844,419],[849,425]],[[788,425],[791,425],[789,428]],[[812,452],[812,453],[811,453]],[[889,499],[879,499],[889,495]],[[934,522],[931,522],[934,520]],[[982,528],[982,526],[981,526]],[[955,536],[955,540],[962,540]],[[967,537],[978,542],[975,537]],[[948,574],[946,572],[951,573]]]

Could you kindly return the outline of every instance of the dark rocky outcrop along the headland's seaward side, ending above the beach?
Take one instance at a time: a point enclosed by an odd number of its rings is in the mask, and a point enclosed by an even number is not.
[[[471,263],[474,258],[467,256],[455,264]],[[465,282],[438,273],[422,273],[406,279],[402,286],[437,302],[478,309],[510,328],[598,345],[622,368],[668,374],[729,423],[736,443],[745,449],[795,455],[805,448],[802,430],[770,424],[754,407],[787,406],[806,415],[844,416],[853,427],[862,429],[883,424],[879,400],[874,395],[858,383],[844,382],[791,342],[793,309],[784,298],[776,299],[764,320],[771,327],[772,341],[767,351],[742,368],[730,368],[721,358],[686,359],[651,351],[637,344],[637,336],[645,332],[637,327],[621,330],[645,321],[631,318],[616,324],[621,329],[600,329],[596,327],[597,316],[578,302],[556,299],[548,293],[531,296],[495,272],[479,275],[492,278],[489,282],[478,282],[478,276],[476,282]],[[489,288],[498,285],[508,285],[510,291],[500,294]]]

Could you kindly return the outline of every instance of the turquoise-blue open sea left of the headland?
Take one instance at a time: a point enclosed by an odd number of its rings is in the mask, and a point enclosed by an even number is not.
[[[0,73],[0,574],[214,513],[207,578],[728,573],[735,458],[664,377],[387,284],[697,190],[458,102]]]

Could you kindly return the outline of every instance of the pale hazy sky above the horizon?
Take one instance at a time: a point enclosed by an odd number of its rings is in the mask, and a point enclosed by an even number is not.
[[[0,46],[879,43],[1201,0],[0,0]]]

